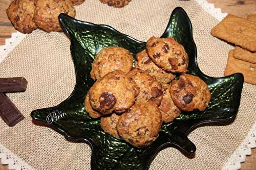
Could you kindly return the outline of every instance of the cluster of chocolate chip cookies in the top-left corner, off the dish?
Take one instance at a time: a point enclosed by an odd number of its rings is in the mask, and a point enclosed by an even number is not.
[[[6,10],[14,28],[22,33],[31,33],[40,28],[46,32],[61,31],[58,16],[66,13],[74,17],[73,6],[85,0],[14,0]]]

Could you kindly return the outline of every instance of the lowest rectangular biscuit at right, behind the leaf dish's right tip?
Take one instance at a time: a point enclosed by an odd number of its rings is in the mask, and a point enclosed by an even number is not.
[[[237,72],[244,75],[244,81],[250,84],[256,84],[256,64],[233,58],[233,50],[228,54],[227,65],[224,75],[229,76]]]

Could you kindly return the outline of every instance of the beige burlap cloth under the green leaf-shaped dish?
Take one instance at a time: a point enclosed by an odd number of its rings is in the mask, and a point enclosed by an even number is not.
[[[160,36],[173,9],[181,6],[192,24],[200,69],[222,77],[233,46],[210,35],[218,21],[196,1],[133,0],[123,9],[87,0],[77,6],[76,18],[113,26],[139,40]],[[13,128],[0,119],[0,142],[35,169],[89,169],[91,149],[86,143],[67,141],[62,135],[32,123],[34,109],[51,107],[65,100],[75,85],[70,41],[63,33],[33,32],[0,63],[0,77],[24,76],[24,93],[8,94],[26,119]],[[245,138],[256,120],[256,86],[245,83],[236,120],[228,126],[201,127],[189,134],[197,146],[194,158],[174,148],[161,151],[151,169],[220,169]]]

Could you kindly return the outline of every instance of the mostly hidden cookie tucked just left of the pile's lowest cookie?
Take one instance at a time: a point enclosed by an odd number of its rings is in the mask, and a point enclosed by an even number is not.
[[[100,127],[101,129],[103,129],[104,132],[114,136],[115,138],[121,139],[121,136],[119,136],[116,129],[116,124],[119,117],[120,115],[117,115],[115,113],[100,117]]]

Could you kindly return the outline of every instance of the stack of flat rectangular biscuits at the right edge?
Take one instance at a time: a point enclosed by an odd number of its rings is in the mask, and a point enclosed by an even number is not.
[[[229,52],[224,75],[241,72],[245,82],[255,85],[256,15],[249,15],[246,19],[227,15],[211,30],[211,35],[236,45]]]

